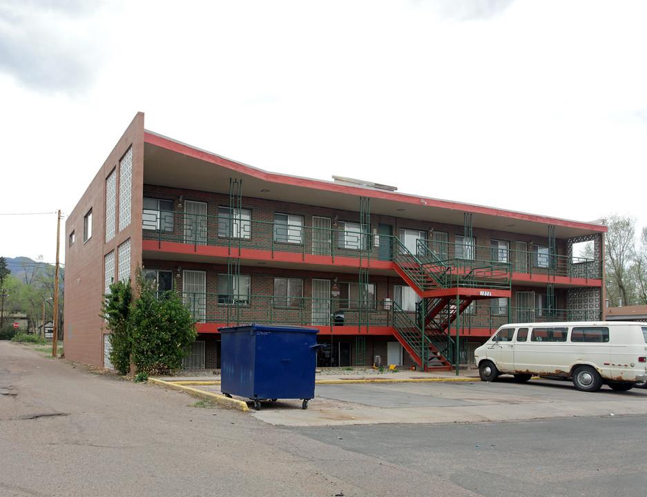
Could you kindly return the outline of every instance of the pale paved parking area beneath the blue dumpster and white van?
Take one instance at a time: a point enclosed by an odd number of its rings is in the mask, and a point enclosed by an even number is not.
[[[456,381],[458,380],[458,381]],[[215,395],[219,384],[192,387]],[[533,420],[582,416],[647,414],[647,390],[577,391],[571,382],[501,378],[447,378],[447,381],[317,384],[308,409],[298,399],[262,402],[254,416],[271,425],[335,426],[378,423],[446,423]],[[238,398],[246,401],[247,399]]]

